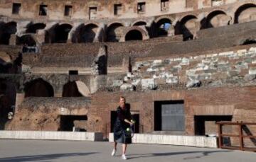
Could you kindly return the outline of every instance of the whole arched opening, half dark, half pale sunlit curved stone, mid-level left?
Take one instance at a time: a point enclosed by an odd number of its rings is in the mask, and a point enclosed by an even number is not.
[[[90,96],[89,88],[82,81],[69,81],[63,86],[63,97]]]

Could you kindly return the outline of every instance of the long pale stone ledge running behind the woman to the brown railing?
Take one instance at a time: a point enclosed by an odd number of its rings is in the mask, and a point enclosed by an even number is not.
[[[113,134],[109,134],[109,141],[114,141]],[[197,146],[217,148],[217,137],[182,136],[164,134],[134,134],[132,143],[141,144],[171,144],[180,146]]]

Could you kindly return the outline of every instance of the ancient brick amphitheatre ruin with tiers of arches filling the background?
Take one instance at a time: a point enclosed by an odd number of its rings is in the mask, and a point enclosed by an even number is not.
[[[108,137],[119,96],[137,133],[255,122],[255,42],[255,0],[0,1],[0,129]]]

